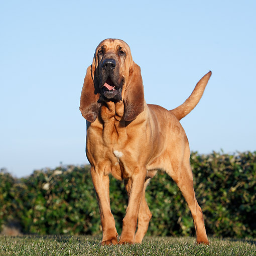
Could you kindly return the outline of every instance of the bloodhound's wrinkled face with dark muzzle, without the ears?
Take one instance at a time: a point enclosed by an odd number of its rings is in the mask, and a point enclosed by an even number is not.
[[[106,39],[96,48],[94,58],[100,99],[122,100],[121,92],[132,62],[130,47],[122,40]]]

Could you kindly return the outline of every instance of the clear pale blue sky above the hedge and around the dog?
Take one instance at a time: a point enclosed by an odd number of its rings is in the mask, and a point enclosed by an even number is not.
[[[88,163],[79,111],[86,68],[105,38],[130,45],[148,103],[180,105],[209,70],[181,123],[201,154],[255,151],[256,1],[2,1],[0,168]]]

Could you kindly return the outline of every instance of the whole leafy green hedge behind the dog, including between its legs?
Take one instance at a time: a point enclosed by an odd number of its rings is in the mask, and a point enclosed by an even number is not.
[[[191,154],[194,187],[208,234],[256,237],[256,152]],[[0,229],[18,222],[23,233],[99,234],[100,218],[89,166],[61,166],[16,179],[0,172]],[[159,172],[146,199],[153,214],[148,235],[194,235],[193,220],[176,184]],[[127,206],[123,183],[110,177],[118,233]]]

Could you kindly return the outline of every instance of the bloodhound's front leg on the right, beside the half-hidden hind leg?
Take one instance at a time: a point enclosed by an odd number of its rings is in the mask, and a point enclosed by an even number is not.
[[[124,181],[128,194],[128,206],[125,217],[122,220],[122,233],[118,242],[119,244],[134,243],[146,173],[146,167],[136,168],[133,175]]]

